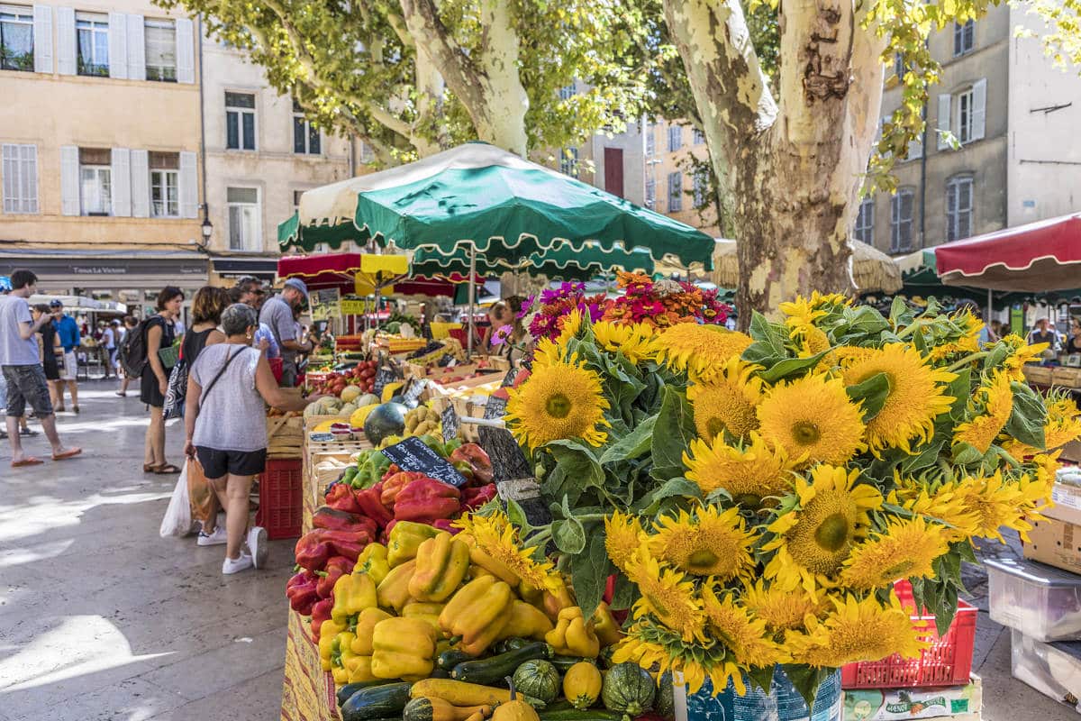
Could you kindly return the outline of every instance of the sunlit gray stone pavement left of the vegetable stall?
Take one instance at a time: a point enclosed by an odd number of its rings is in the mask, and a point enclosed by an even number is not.
[[[142,473],[143,404],[80,388],[59,416],[79,458],[48,460],[39,435],[45,463],[13,469],[0,441],[0,721],[278,719],[292,542],[227,577],[224,546],[161,538],[177,477]]]

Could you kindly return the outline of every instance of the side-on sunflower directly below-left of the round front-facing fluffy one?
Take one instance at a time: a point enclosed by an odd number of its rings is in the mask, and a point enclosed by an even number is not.
[[[694,439],[693,457],[683,453],[686,477],[698,484],[704,496],[724,489],[733,500],[758,507],[763,498],[780,496],[791,489],[791,470],[784,449],[774,449],[751,432],[750,443],[729,445],[721,438],[712,443]]]

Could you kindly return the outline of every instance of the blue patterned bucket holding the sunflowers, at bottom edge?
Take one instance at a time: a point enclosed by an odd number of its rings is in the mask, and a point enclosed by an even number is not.
[[[716,696],[713,684],[707,678],[697,693],[688,696],[686,686],[675,689],[676,721],[841,721],[844,718],[844,697],[841,692],[841,672],[828,676],[808,712],[808,705],[800,692],[778,667],[773,672],[770,693],[764,693],[744,678],[747,693],[735,692],[732,681]]]

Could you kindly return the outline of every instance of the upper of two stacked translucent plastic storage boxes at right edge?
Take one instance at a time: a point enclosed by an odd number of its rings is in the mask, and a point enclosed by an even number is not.
[[[989,560],[991,620],[1037,641],[1081,640],[1081,576],[1027,560]]]

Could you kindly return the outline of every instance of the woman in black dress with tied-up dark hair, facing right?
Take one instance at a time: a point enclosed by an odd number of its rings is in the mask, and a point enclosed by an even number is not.
[[[184,303],[184,292],[166,285],[158,293],[158,312],[142,325],[145,334],[146,363],[141,377],[139,400],[150,406],[150,424],[146,428],[143,453],[144,473],[178,473],[181,469],[165,460],[165,393],[169,391],[169,373],[158,351],[173,345],[176,317]]]

